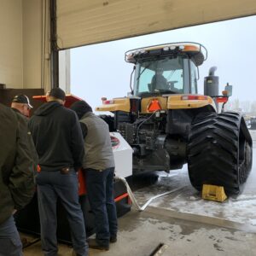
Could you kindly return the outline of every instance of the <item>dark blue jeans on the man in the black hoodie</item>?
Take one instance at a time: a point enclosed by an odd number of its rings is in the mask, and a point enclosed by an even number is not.
[[[56,229],[56,202],[67,212],[67,220],[71,230],[73,249],[79,256],[88,255],[84,216],[79,205],[79,185],[77,173],[71,170],[67,174],[61,172],[39,172],[36,176],[38,185],[38,208],[41,224],[41,241],[45,256],[56,256],[58,252]]]

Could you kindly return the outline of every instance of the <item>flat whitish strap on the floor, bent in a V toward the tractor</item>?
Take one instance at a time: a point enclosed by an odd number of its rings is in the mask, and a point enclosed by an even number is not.
[[[136,200],[134,194],[132,193],[131,188],[130,188],[129,184],[127,183],[125,177],[114,177],[114,178],[115,178],[116,180],[119,180],[119,181],[121,181],[121,182],[123,182],[123,183],[125,184],[125,187],[126,187],[126,189],[127,189],[128,195],[130,196],[131,202],[132,202],[132,204],[137,208],[137,210],[138,210],[139,212],[143,212],[143,211],[146,209],[146,207],[148,207],[148,205],[149,205],[154,199],[159,198],[160,196],[163,196],[163,195],[171,194],[172,192],[175,192],[175,191],[177,191],[177,190],[183,189],[183,187],[182,187],[182,188],[177,188],[177,189],[172,189],[172,190],[167,191],[167,192],[165,192],[165,193],[162,193],[162,194],[160,194],[160,195],[154,195],[153,197],[149,198],[149,200],[143,205],[143,207],[140,207],[139,204],[137,203],[137,200]]]

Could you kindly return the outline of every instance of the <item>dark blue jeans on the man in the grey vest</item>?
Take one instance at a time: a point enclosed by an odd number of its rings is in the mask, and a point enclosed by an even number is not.
[[[85,169],[86,188],[91,211],[95,215],[96,241],[108,245],[109,238],[118,230],[116,207],[113,201],[113,172],[108,168],[102,172]]]

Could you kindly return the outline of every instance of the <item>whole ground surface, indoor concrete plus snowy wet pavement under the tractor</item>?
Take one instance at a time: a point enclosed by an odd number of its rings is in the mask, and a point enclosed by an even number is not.
[[[256,131],[252,135],[255,142]],[[186,168],[169,175],[159,172],[156,183],[137,188],[140,206],[154,195],[175,191],[152,201],[144,212],[132,207],[119,218],[118,242],[108,252],[90,249],[90,256],[256,256],[256,164],[241,195],[224,203],[202,200]],[[161,252],[154,254],[160,244]],[[43,255],[40,241],[24,249],[24,256],[34,255]],[[72,248],[60,244],[59,255],[72,255]]]

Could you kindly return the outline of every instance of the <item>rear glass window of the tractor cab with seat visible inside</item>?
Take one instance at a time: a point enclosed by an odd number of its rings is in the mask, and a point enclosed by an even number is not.
[[[138,62],[134,95],[184,93],[184,56]]]

